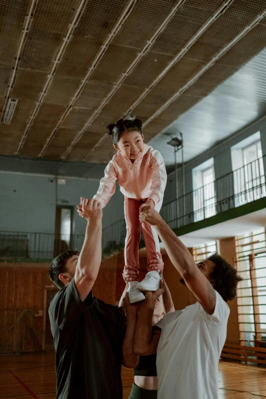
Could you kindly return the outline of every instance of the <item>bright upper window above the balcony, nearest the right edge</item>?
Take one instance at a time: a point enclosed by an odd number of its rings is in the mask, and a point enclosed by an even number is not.
[[[231,148],[235,206],[266,196],[260,132]]]

